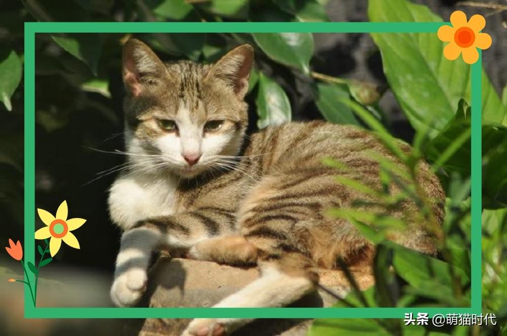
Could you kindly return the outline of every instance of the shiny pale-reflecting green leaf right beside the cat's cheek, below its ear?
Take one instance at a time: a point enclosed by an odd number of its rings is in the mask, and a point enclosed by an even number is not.
[[[259,90],[255,102],[259,128],[291,121],[291,103],[285,91],[263,72],[259,73]]]

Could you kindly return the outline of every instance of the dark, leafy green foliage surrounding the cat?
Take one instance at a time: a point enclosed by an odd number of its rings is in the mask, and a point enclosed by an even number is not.
[[[429,4],[445,18],[456,9],[452,1],[419,3]],[[0,6],[0,211],[7,223],[0,234],[2,241],[22,237],[23,21],[441,20],[426,7],[414,7],[405,0],[27,0],[3,1]],[[469,12],[477,13],[478,9]],[[503,14],[487,18],[486,31],[494,43],[483,58],[488,73],[483,86],[483,305],[485,311],[496,312],[504,321],[507,136],[502,124],[507,124],[506,90],[503,103],[498,95],[507,82],[507,66],[500,61],[507,56]],[[442,59],[443,44],[436,34],[181,33],[136,37],[165,60],[212,62],[239,43],[252,44],[256,69],[247,95],[252,129],[291,119],[327,119],[373,128],[387,134],[386,138],[392,135],[415,141],[416,150],[411,154],[413,160],[407,160],[407,169],[421,157],[436,165],[449,196],[446,240],[440,255],[445,262],[400,252],[399,247],[372,237],[383,246],[377,269],[392,265],[396,274],[379,273],[379,278],[388,281],[366,293],[353,293],[338,305],[469,304],[469,67],[461,60]],[[108,277],[113,271],[119,232],[107,216],[106,190],[115,177],[112,168],[123,158],[99,151],[123,149],[120,64],[121,41],[125,38],[125,34],[39,34],[36,39],[37,206],[54,212],[66,199],[70,216],[87,218],[79,232],[81,250],[62,249],[58,262]],[[396,53],[402,46],[405,55]],[[460,99],[464,101],[458,105]],[[368,117],[373,117],[373,122]],[[381,201],[388,206],[389,194],[381,194]],[[350,210],[347,216],[358,219]],[[94,244],[89,243],[92,241]],[[425,266],[415,274],[407,267],[414,263]],[[356,326],[357,321],[317,321],[310,333],[350,333]],[[394,321],[371,321],[365,328],[356,332],[424,332],[421,328],[407,331]],[[459,328],[445,331],[478,332]],[[483,331],[501,332],[499,327]]]

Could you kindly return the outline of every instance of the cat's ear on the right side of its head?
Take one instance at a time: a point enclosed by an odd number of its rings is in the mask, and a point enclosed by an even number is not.
[[[243,99],[248,91],[248,79],[253,65],[253,48],[244,44],[234,48],[216,62],[206,78],[214,77],[229,85]]]

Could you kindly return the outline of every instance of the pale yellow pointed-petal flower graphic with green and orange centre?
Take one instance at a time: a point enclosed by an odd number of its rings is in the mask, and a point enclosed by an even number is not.
[[[37,212],[47,227],[35,231],[35,239],[47,239],[51,237],[49,241],[49,252],[52,257],[55,256],[60,249],[62,240],[70,247],[79,248],[78,239],[70,231],[74,231],[81,227],[86,222],[86,219],[67,219],[67,201],[63,201],[62,204],[60,204],[58,210],[56,210],[56,216],[53,216],[43,209],[37,209]]]

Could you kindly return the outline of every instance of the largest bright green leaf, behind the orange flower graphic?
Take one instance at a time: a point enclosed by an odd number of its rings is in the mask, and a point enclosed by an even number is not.
[[[372,22],[441,22],[427,7],[406,0],[370,0]],[[372,33],[384,73],[400,106],[416,129],[431,124],[434,137],[452,118],[460,98],[470,101],[470,65],[443,56],[437,33]],[[482,74],[483,120],[502,123],[506,107]]]

